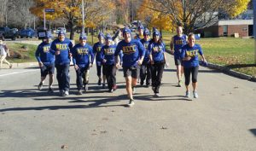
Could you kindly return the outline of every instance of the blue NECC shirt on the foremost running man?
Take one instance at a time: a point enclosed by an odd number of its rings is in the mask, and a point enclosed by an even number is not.
[[[143,44],[136,39],[131,39],[130,43],[126,43],[125,40],[120,41],[114,55],[119,55],[121,50],[123,50],[123,67],[137,66],[137,61],[145,55]]]

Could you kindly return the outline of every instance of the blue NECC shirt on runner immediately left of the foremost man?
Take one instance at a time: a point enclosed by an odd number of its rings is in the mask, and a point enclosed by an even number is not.
[[[106,65],[113,65],[115,63],[114,61],[114,52],[116,49],[116,45],[104,45],[101,50],[101,60],[106,60],[104,64]]]

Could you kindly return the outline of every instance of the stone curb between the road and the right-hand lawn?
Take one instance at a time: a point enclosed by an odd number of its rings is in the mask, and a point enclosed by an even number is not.
[[[171,52],[169,50],[166,50],[166,52],[171,55]],[[208,68],[211,68],[211,69],[221,71],[222,73],[226,73],[226,74],[228,74],[230,76],[233,76],[233,77],[236,77],[236,78],[241,78],[241,79],[246,79],[248,81],[256,82],[256,77],[247,75],[245,73],[236,72],[236,71],[230,69],[229,67],[224,67],[224,66],[209,63],[209,62],[208,62],[207,66],[202,66],[202,67],[208,67]]]

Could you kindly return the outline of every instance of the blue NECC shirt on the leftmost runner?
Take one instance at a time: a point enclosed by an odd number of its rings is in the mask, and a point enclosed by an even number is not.
[[[50,43],[45,42],[38,45],[38,49],[35,53],[35,56],[38,62],[42,61],[44,65],[49,65],[55,62],[55,55],[49,52]]]

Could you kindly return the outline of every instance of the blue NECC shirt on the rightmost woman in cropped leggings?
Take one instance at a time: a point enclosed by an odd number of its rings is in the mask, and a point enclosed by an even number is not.
[[[184,58],[186,56],[190,56],[191,59],[189,61],[183,61],[183,67],[189,68],[199,66],[199,54],[203,55],[201,45],[195,44],[193,47],[190,47],[189,44],[184,45],[181,57]]]

